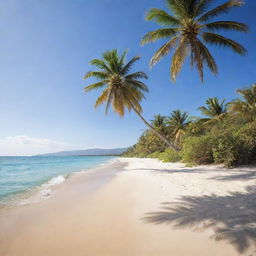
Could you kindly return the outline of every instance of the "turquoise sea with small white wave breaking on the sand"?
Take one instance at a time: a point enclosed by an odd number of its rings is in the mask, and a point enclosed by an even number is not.
[[[43,183],[62,183],[68,174],[103,164],[109,156],[0,157],[0,203]]]

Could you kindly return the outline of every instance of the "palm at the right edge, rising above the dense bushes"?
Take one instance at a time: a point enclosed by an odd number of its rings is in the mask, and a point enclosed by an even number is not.
[[[235,99],[230,103],[230,111],[252,122],[256,120],[256,83],[249,88],[237,90],[243,99]]]

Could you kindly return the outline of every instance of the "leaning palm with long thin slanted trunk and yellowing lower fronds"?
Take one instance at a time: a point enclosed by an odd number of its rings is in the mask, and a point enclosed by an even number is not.
[[[90,64],[99,68],[98,71],[89,71],[85,74],[84,79],[94,77],[99,81],[86,86],[84,90],[103,89],[98,97],[95,107],[106,102],[106,114],[110,105],[113,110],[120,116],[125,114],[125,109],[133,110],[141,120],[169,147],[178,150],[164,134],[160,133],[152,125],[150,125],[141,115],[141,100],[144,98],[144,92],[148,92],[147,86],[140,79],[147,79],[144,72],[129,73],[133,64],[140,59],[139,56],[132,58],[125,63],[127,51],[121,56],[116,50],[107,51],[102,54],[102,59],[93,59]]]

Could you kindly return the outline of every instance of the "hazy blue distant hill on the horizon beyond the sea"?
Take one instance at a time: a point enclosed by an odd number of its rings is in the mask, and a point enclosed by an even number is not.
[[[92,148],[84,150],[60,151],[56,153],[47,153],[40,156],[106,156],[121,155],[127,148],[101,149]]]

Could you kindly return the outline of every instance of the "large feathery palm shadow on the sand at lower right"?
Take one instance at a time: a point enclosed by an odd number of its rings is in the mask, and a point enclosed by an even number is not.
[[[143,220],[176,228],[212,228],[216,241],[226,240],[243,253],[256,247],[256,186],[227,196],[184,196],[178,203],[163,203],[161,211],[147,213]]]

